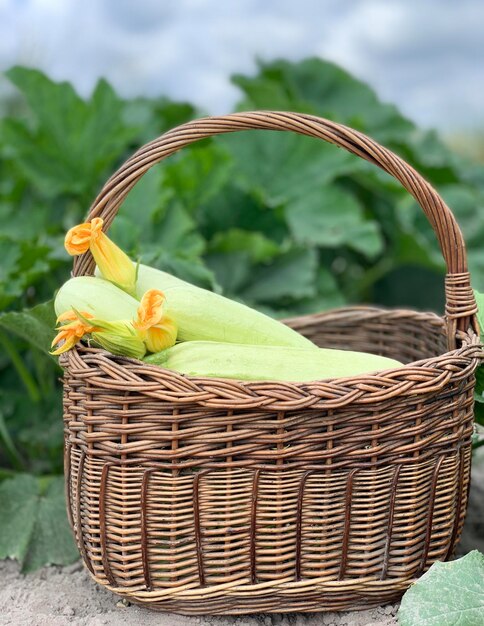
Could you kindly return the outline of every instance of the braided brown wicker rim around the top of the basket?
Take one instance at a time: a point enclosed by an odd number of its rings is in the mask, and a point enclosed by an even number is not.
[[[369,315],[385,312],[385,309],[374,307],[343,307],[316,316],[350,309],[366,309]],[[436,323],[443,325],[445,331],[443,318],[435,313],[403,309],[389,310],[388,313],[397,316],[411,313],[427,319],[434,318]],[[316,316],[301,316],[292,318],[292,321]],[[471,329],[460,331],[459,335],[462,341],[459,348],[434,357],[374,373],[311,382],[242,381],[189,376],[82,344],[61,355],[60,364],[69,370],[71,376],[88,378],[91,385],[125,392],[131,387],[133,391],[153,399],[179,405],[197,404],[219,409],[264,408],[277,411],[335,409],[349,403],[368,405],[396,396],[435,392],[445,388],[450,380],[455,383],[467,379],[484,360],[484,347],[479,336]]]

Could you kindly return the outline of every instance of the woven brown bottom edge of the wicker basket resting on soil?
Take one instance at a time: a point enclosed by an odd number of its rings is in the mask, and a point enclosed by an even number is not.
[[[92,574],[91,574],[92,575]],[[329,611],[364,611],[400,600],[414,579],[399,581],[331,581],[318,590],[268,590],[267,585],[247,585],[244,593],[227,594],[227,590],[206,587],[185,593],[166,595],[164,591],[126,593],[126,590],[94,580],[133,604],[154,611],[179,615],[248,615],[254,613],[323,613]],[[304,581],[301,581],[304,583]],[[311,581],[306,581],[307,586]],[[352,584],[354,583],[354,584]],[[307,588],[306,586],[306,588]],[[313,587],[313,585],[311,585]]]

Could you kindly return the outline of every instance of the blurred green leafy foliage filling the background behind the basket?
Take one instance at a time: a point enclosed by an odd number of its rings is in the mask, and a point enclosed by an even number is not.
[[[104,81],[84,100],[37,70],[7,76],[18,91],[0,121],[0,558],[32,569],[76,556],[60,478],[61,371],[46,354],[54,316],[44,304],[69,276],[65,231],[137,147],[203,111],[123,100]],[[449,147],[321,60],[260,63],[255,76],[232,80],[238,110],[321,115],[411,163],[454,211],[484,291],[482,144],[469,150],[457,137]],[[253,131],[185,149],[145,175],[110,235],[145,263],[275,317],[360,302],[443,310],[445,267],[415,201],[374,166],[307,137]]]

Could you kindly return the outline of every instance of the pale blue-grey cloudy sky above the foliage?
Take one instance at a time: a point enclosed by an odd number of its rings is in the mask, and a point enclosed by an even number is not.
[[[0,0],[0,69],[227,112],[256,56],[336,61],[425,126],[484,126],[482,0]]]

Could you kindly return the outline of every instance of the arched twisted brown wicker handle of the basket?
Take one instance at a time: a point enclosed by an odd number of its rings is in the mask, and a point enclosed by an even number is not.
[[[292,131],[323,139],[378,165],[400,181],[424,210],[437,235],[447,265],[445,315],[449,349],[455,348],[460,331],[472,329],[479,332],[465,243],[449,207],[432,186],[396,154],[363,133],[321,117],[283,111],[253,111],[207,117],[182,124],[144,145],[111,176],[94,200],[87,220],[102,217],[104,229],[107,230],[128,192],[143,174],[152,165],[184,146],[212,135],[255,129]],[[92,274],[93,271],[94,261],[90,252],[75,258],[74,276]]]

